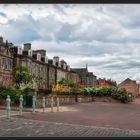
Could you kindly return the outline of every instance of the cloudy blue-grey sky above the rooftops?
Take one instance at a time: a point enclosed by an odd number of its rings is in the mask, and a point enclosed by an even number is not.
[[[1,4],[0,35],[98,78],[140,82],[139,4]]]

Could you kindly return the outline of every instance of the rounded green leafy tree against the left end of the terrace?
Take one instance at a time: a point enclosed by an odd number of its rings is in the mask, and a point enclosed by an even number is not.
[[[16,66],[13,69],[13,82],[19,89],[21,84],[28,84],[31,81],[29,71],[26,67]]]

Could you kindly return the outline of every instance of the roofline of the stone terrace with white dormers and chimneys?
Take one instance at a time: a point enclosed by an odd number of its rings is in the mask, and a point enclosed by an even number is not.
[[[11,47],[10,49],[13,50],[16,54],[30,56],[38,61],[49,63],[49,64],[52,64],[54,66],[57,66],[57,67],[60,67],[63,69],[67,69],[68,71],[70,71],[70,66],[67,65],[67,63],[64,60],[59,61],[58,56],[54,56],[53,59],[48,59],[48,57],[46,56],[46,50],[43,50],[43,49],[31,50],[30,43],[24,44],[24,49],[22,49],[21,46]]]

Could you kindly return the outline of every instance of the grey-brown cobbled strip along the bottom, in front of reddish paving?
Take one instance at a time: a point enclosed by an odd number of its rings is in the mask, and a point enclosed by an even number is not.
[[[127,130],[106,127],[94,127],[66,123],[54,123],[23,118],[0,119],[1,137],[121,137],[140,136],[140,130]]]

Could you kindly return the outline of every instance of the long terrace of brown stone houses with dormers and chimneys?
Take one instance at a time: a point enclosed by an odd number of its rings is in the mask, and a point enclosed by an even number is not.
[[[66,61],[59,60],[58,56],[48,59],[46,50],[32,50],[30,43],[25,43],[21,47],[8,43],[8,41],[4,43],[2,37],[0,40],[0,79],[5,81],[7,85],[12,83],[12,70],[17,65],[24,66],[29,70],[32,82],[35,85],[34,88],[37,89],[48,89],[61,78],[71,80],[75,84],[80,83],[81,74],[79,75],[79,72],[71,69]],[[87,83],[82,84],[95,86],[93,74],[86,71],[87,74],[91,76],[88,76],[90,78]],[[85,74],[83,73],[83,75]]]

